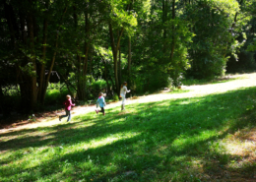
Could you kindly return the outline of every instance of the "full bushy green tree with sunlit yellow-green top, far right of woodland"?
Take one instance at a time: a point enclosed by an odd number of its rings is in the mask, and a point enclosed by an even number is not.
[[[204,8],[194,7],[198,11],[191,17],[196,36],[193,37],[189,50],[193,61],[192,68],[187,74],[197,79],[222,76],[227,61],[226,53],[233,52],[235,47],[240,46],[228,30],[233,23],[235,12],[238,11],[238,3],[209,1],[196,3],[194,6]],[[228,13],[228,16],[225,16],[224,12]]]

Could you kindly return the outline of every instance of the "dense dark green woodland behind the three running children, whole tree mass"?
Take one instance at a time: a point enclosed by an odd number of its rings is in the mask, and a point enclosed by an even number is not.
[[[1,114],[256,70],[256,0],[3,0],[0,17]]]

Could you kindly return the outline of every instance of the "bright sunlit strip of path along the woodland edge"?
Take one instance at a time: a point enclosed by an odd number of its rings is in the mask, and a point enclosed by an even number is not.
[[[233,76],[239,77],[239,76]],[[145,96],[138,96],[136,99],[127,98],[126,105],[136,104],[136,103],[147,103],[147,102],[157,102],[166,99],[179,99],[179,98],[193,98],[197,96],[204,96],[213,93],[222,93],[226,91],[235,91],[238,89],[255,87],[256,86],[256,73],[253,74],[244,74],[242,75],[243,80],[233,80],[226,83],[214,84],[214,85],[203,85],[203,86],[183,86],[182,90],[186,90],[188,92],[179,92],[179,93],[171,93],[171,92],[164,92],[159,94],[150,94]],[[170,94],[171,93],[171,94]],[[111,104],[107,104],[106,109],[115,108],[120,106],[119,102],[114,102]],[[76,106],[73,108],[73,118],[80,115],[85,115],[90,112],[95,112],[96,106]],[[125,111],[127,112],[127,111]],[[128,111],[129,112],[129,111]],[[22,131],[24,129],[35,129],[38,127],[52,127],[55,125],[59,125],[58,116],[64,114],[56,113],[56,118],[42,118],[34,123],[30,123],[23,126],[17,126],[15,128],[10,129],[2,129],[0,130],[1,133],[12,133],[14,131]],[[107,114],[107,111],[106,111]],[[65,122],[64,119],[62,123]]]

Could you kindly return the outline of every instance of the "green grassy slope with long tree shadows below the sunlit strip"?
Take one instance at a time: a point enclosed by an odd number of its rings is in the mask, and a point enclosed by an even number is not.
[[[222,141],[255,126],[241,119],[255,116],[255,92],[137,103],[0,134],[0,181],[214,181],[238,158]]]

